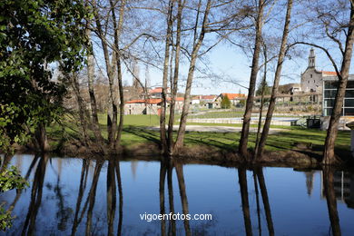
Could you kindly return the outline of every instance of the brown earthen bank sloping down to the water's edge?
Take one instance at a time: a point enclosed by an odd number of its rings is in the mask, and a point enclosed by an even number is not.
[[[19,152],[28,153],[31,150],[21,147]],[[96,152],[94,146],[84,147],[79,143],[67,143],[62,146],[60,150],[54,150],[48,154],[52,156],[74,157],[91,160],[130,160],[138,159],[143,161],[162,161],[166,157],[161,155],[159,146],[156,143],[140,143],[137,145],[123,146],[119,153],[110,153],[102,155]],[[32,153],[33,150],[32,150]],[[349,157],[349,152],[341,152],[342,157]],[[219,165],[223,167],[238,167],[246,164],[250,167],[252,163],[244,162],[242,157],[233,150],[221,150],[216,147],[208,145],[186,146],[179,150],[178,155],[173,157],[174,160],[184,164],[209,164]],[[291,168],[310,168],[319,169],[321,161],[321,152],[310,149],[309,147],[302,147],[301,144],[294,150],[290,151],[267,151],[264,153],[260,162],[254,163],[255,165],[269,166],[269,167],[291,167]],[[346,161],[349,161],[347,159]],[[343,162],[338,167],[340,169],[351,168],[353,162]]]

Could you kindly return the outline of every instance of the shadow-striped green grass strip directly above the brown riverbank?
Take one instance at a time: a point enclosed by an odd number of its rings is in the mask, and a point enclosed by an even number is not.
[[[159,133],[146,130],[144,127],[130,126],[124,128],[123,143],[159,142]],[[285,132],[270,134],[267,142],[267,150],[280,151],[291,150],[295,143],[312,143],[314,150],[321,150],[326,137],[325,131],[314,129],[289,129]],[[250,148],[254,147],[256,134],[250,134]],[[240,133],[210,133],[187,132],[185,144],[188,146],[207,144],[221,149],[236,150],[240,141]],[[349,150],[350,133],[339,131],[336,148]]]

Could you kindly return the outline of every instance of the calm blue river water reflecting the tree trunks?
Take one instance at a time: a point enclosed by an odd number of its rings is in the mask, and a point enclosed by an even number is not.
[[[10,162],[30,187],[1,193],[15,216],[1,235],[354,235],[350,172],[34,155]],[[211,220],[148,221],[170,212]]]

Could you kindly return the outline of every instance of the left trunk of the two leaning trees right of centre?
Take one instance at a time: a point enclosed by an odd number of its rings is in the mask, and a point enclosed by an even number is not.
[[[261,31],[263,26],[263,11],[264,11],[264,0],[259,0],[258,3],[258,15],[256,21],[256,38],[254,42],[254,51],[253,51],[253,59],[251,66],[251,76],[250,76],[250,85],[249,85],[249,94],[246,100],[246,109],[243,114],[243,123],[242,123],[242,131],[241,131],[241,139],[239,144],[239,152],[241,155],[247,157],[247,145],[249,141],[249,132],[250,132],[250,124],[251,124],[251,114],[253,107],[253,98],[254,91],[256,89],[257,82],[257,74],[259,71],[259,61],[260,61],[260,53],[261,53]]]

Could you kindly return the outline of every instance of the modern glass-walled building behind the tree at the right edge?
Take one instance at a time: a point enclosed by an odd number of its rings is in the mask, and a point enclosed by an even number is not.
[[[323,116],[329,116],[332,113],[337,85],[337,76],[323,77]],[[354,74],[349,75],[341,113],[342,116],[354,116]]]

